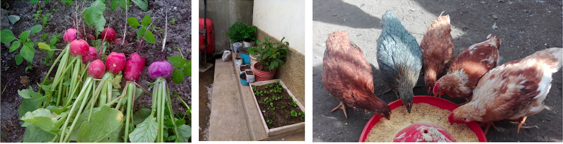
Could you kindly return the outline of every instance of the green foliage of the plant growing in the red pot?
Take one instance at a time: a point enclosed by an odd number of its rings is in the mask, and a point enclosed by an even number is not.
[[[289,43],[287,41],[281,40],[282,43],[271,43],[270,38],[264,37],[265,41],[256,41],[258,48],[263,48],[258,51],[260,56],[256,61],[262,63],[263,66],[267,66],[270,70],[276,69],[278,67],[283,67],[285,61],[287,61],[287,54],[289,53]],[[284,45],[285,44],[285,45]]]

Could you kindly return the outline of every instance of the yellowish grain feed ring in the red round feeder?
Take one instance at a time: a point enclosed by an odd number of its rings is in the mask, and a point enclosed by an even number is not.
[[[456,142],[479,142],[476,134],[467,124],[450,125],[448,115],[452,113],[426,103],[414,104],[411,113],[406,112],[405,106],[399,106],[391,111],[391,120],[379,119],[370,130],[366,142],[393,142],[395,134],[413,123],[434,123],[444,127],[451,133]]]

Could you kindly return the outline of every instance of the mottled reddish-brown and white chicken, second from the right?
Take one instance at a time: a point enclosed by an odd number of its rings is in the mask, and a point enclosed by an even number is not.
[[[489,34],[485,41],[463,50],[452,62],[448,74],[436,81],[434,95],[448,94],[454,98],[471,96],[481,76],[497,66],[500,47],[501,39]]]

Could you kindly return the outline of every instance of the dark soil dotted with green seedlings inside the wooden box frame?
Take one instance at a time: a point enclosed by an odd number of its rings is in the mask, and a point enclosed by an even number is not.
[[[258,95],[254,94],[254,95],[256,95],[256,100],[258,100],[258,105],[260,105],[260,111],[262,113],[262,116],[264,117],[264,120],[266,120],[266,124],[268,125],[268,128],[276,128],[276,127],[288,126],[290,124],[305,122],[305,117],[301,117],[301,115],[297,115],[297,117],[292,116],[291,113],[292,110],[294,110],[296,114],[302,113],[302,111],[299,108],[299,106],[293,105],[294,104],[293,99],[291,98],[291,96],[289,96],[287,90],[283,89],[283,87],[279,84],[276,83],[273,84],[274,85],[271,85],[271,83],[267,84],[268,86],[267,88],[265,87],[266,85],[252,86],[254,92],[262,91],[262,95],[260,94]],[[276,88],[276,85],[281,88],[281,92],[280,93],[270,92],[270,90],[279,90],[278,88]],[[269,93],[266,94],[265,91],[268,91]],[[266,97],[267,97],[266,101],[269,101],[269,103],[266,103],[264,101]],[[274,99],[272,99],[272,97],[274,97]],[[277,99],[277,97],[279,97],[279,99]],[[270,103],[272,103],[273,108],[270,105]],[[270,120],[271,124],[268,123],[267,120]]]

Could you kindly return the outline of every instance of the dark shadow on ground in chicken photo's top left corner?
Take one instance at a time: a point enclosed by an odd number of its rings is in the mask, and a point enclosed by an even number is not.
[[[338,4],[328,3],[326,1],[313,1],[313,21],[327,22],[330,24],[350,26],[354,28],[381,29],[379,21],[381,18],[374,17],[369,13],[365,13],[359,6],[350,3],[337,1]],[[337,13],[334,10],[346,11],[346,13]]]

